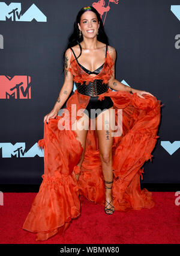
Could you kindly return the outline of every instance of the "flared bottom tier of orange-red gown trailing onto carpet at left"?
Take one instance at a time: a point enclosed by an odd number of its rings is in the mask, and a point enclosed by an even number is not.
[[[23,229],[37,233],[36,240],[62,234],[71,219],[80,215],[79,187],[76,178],[59,173],[42,175],[39,192],[23,223]]]

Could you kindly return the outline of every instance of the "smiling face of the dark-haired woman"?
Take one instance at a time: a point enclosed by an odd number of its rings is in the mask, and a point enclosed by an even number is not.
[[[78,27],[82,31],[83,37],[93,38],[97,35],[100,24],[93,11],[85,11],[80,17]]]

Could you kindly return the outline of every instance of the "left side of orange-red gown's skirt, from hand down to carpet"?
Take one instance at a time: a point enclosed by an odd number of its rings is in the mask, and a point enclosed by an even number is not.
[[[36,240],[62,234],[80,215],[79,187],[72,171],[83,148],[75,131],[58,129],[61,118],[44,122],[44,138],[38,140],[44,149],[43,182],[23,223],[23,229],[37,233]]]

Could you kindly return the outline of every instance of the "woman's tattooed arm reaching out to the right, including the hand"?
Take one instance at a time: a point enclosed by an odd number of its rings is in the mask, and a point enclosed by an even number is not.
[[[149,92],[145,92],[145,91],[133,89],[129,86],[125,86],[125,84],[122,84],[121,82],[116,80],[115,79],[116,49],[113,48],[112,46],[109,46],[108,47],[108,52],[109,52],[110,56],[112,57],[113,63],[114,63],[113,66],[112,66],[113,73],[112,73],[112,76],[111,76],[110,80],[108,81],[108,84],[109,84],[110,88],[112,88],[113,90],[116,90],[116,91],[125,91],[125,92],[130,92],[130,93],[137,93],[137,95],[140,96],[140,98],[143,98],[143,99],[145,99],[142,96],[143,94],[149,94],[151,96],[154,96]]]

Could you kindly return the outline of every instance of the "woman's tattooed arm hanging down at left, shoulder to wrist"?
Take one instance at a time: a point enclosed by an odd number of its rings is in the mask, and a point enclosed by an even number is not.
[[[70,96],[71,91],[73,90],[73,75],[68,68],[70,67],[70,59],[71,59],[71,50],[67,49],[65,52],[65,61],[64,61],[64,84],[59,92],[58,99],[53,107],[54,110],[60,110],[64,105],[65,101],[67,101],[68,96]]]

